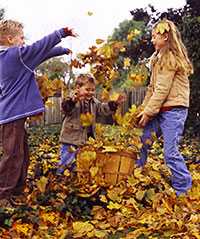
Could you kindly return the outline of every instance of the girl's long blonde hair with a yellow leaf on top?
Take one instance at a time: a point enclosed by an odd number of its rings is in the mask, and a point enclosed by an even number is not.
[[[192,74],[193,65],[188,57],[181,34],[175,24],[172,21],[163,19],[153,26],[153,30],[160,34],[168,34],[167,45],[163,51],[161,50],[161,65],[166,65],[169,68],[177,67],[187,75]]]

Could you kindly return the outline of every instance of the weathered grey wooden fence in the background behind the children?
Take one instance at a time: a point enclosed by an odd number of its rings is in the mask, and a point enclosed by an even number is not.
[[[126,112],[132,104],[140,105],[144,99],[145,91],[146,87],[139,87],[132,89],[131,91],[125,91],[127,100],[122,106],[122,111]],[[32,121],[30,126],[61,123],[62,118],[61,97],[50,97],[48,99],[48,104],[45,107],[44,116],[41,119]],[[100,119],[99,121],[104,123],[106,122],[105,119]]]

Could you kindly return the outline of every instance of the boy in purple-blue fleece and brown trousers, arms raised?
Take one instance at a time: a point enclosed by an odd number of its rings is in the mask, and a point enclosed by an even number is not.
[[[55,47],[62,38],[75,37],[69,28],[62,28],[32,45],[24,45],[21,23],[0,22],[0,207],[17,204],[29,165],[26,118],[44,111],[35,81],[34,69],[43,61],[71,51]]]

